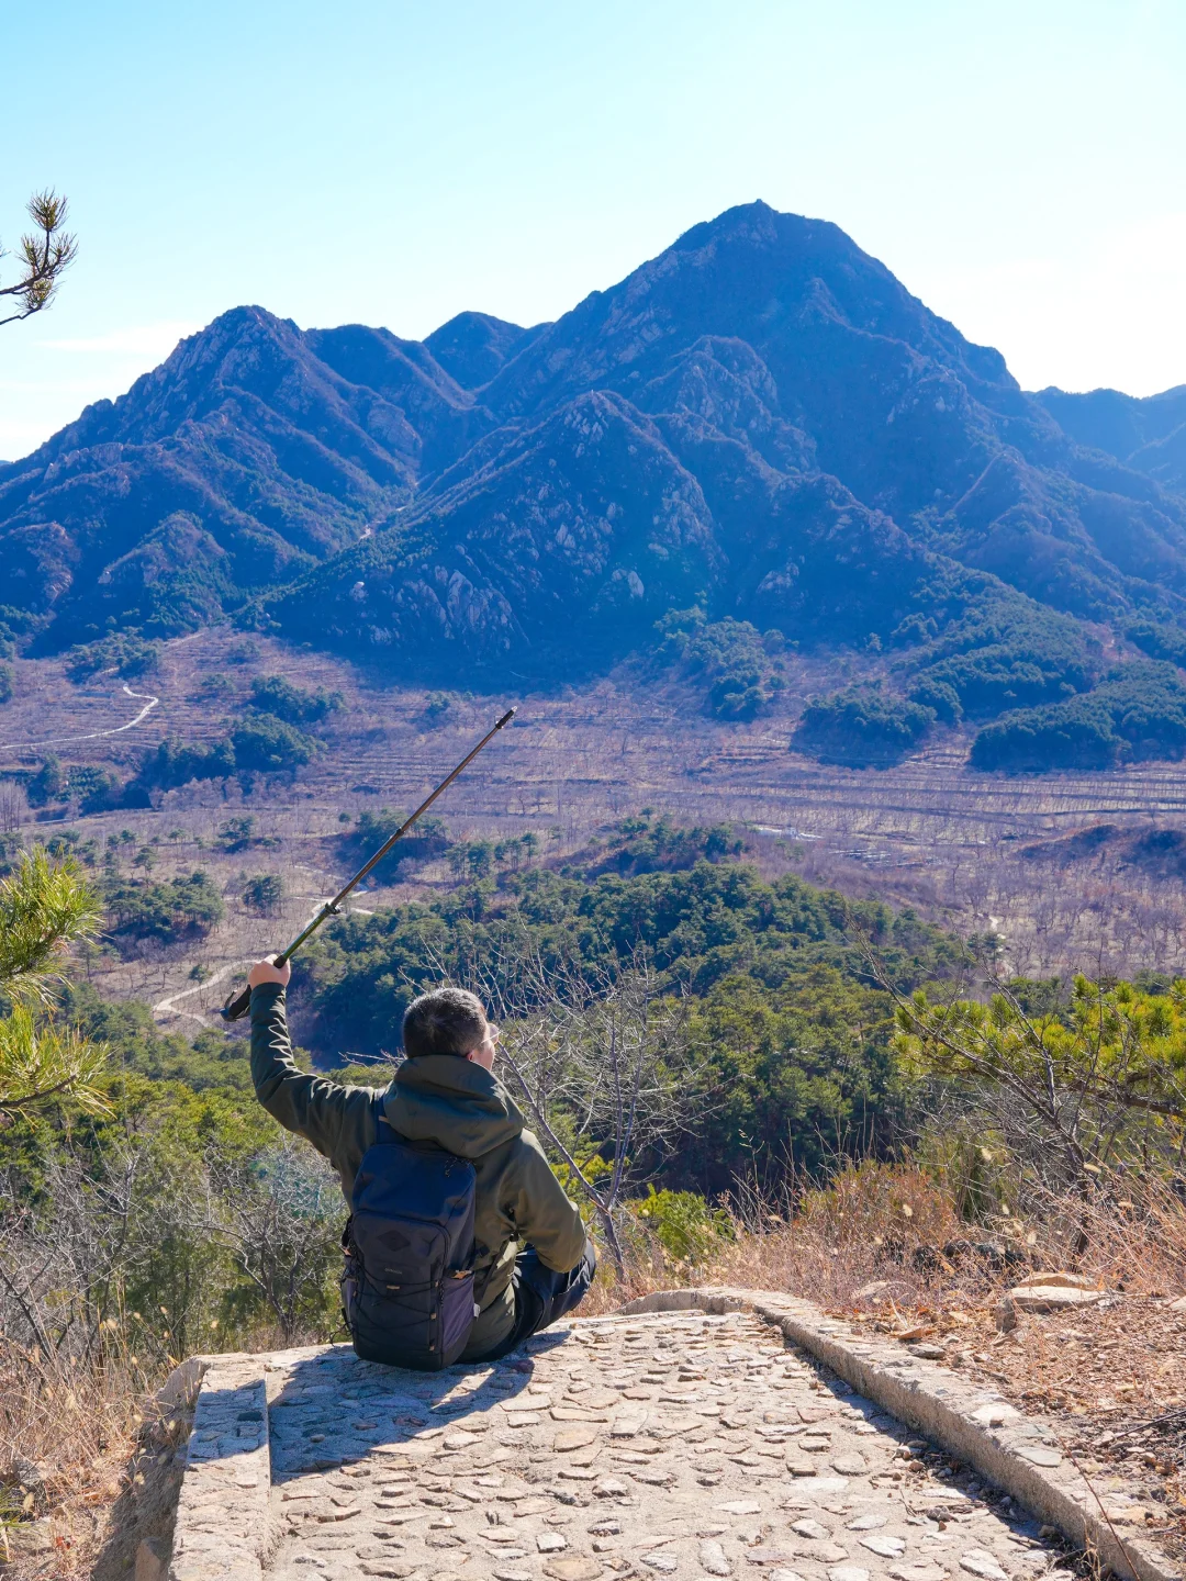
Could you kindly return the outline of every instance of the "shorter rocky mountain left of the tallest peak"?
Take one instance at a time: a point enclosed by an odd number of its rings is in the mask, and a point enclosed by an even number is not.
[[[55,647],[108,617],[187,629],[166,523],[183,515],[223,568],[209,618],[410,500],[419,452],[397,405],[312,356],[296,326],[236,308],[0,471],[0,577]]]

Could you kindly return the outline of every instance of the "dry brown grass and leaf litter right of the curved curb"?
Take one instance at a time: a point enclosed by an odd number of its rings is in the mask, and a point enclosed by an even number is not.
[[[1129,1179],[1044,1202],[1003,1238],[961,1224],[954,1202],[914,1165],[849,1165],[792,1219],[757,1227],[751,1209],[699,1266],[652,1258],[628,1289],[595,1289],[590,1307],[664,1285],[781,1290],[903,1344],[938,1344],[947,1366],[1048,1420],[1099,1494],[1118,1475],[1135,1485],[1146,1535],[1186,1560],[1186,1311],[1172,1304],[1186,1292],[1186,1203],[1164,1181]],[[1109,1295],[1003,1331],[1001,1296],[1034,1270],[1090,1274]]]

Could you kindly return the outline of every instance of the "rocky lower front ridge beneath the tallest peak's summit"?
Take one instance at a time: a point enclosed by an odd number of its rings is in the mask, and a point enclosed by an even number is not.
[[[595,392],[498,446],[504,432],[398,526],[269,599],[270,618],[435,674],[512,656],[555,675],[612,662],[689,606],[889,640],[946,564],[837,479],[780,473],[697,417]]]

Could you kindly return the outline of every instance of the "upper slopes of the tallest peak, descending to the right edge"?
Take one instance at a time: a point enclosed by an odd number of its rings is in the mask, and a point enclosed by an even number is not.
[[[1172,568],[1177,591],[1181,501],[1082,457],[999,353],[966,341],[837,226],[765,204],[696,226],[587,297],[482,398],[503,421],[577,389],[637,400],[704,335],[751,348],[769,375],[767,405],[810,436],[818,465],[916,536],[1072,613],[1107,618],[1129,596],[1150,596],[1124,582],[1116,596],[1115,569],[1099,563],[1094,520],[1120,509],[1159,541],[1135,566],[1121,564],[1121,579],[1148,580],[1156,563],[1161,580]],[[656,409],[645,397],[640,405]],[[1014,479],[1004,495],[1003,473]],[[1093,509],[1097,493],[1131,504]]]

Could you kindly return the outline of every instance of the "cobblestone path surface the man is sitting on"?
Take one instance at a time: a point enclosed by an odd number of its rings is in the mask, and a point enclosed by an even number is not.
[[[335,1347],[267,1394],[274,1581],[1007,1581],[1056,1559],[745,1314],[576,1322],[438,1375]]]

